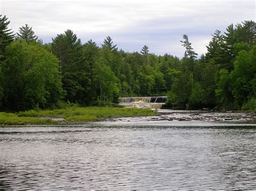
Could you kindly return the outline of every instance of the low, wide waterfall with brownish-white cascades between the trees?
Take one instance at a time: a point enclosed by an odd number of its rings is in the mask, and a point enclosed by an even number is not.
[[[119,97],[119,105],[125,108],[150,108],[160,109],[165,104],[167,96],[154,96],[154,97]]]

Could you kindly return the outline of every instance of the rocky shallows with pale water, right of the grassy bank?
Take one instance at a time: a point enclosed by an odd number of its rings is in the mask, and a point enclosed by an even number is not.
[[[234,125],[255,124],[256,111],[199,111],[159,109],[158,115],[147,117],[110,118],[100,124],[107,125]]]

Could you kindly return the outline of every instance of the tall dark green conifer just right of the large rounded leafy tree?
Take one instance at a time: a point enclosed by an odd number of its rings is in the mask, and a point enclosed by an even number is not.
[[[66,30],[64,34],[58,34],[52,39],[52,53],[60,60],[65,100],[85,104],[90,81],[82,47],[81,40],[71,30]]]

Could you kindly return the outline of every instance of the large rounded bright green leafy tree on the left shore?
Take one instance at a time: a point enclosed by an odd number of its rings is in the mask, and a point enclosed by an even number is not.
[[[3,106],[13,111],[52,107],[63,96],[58,59],[39,45],[17,40],[2,64]]]

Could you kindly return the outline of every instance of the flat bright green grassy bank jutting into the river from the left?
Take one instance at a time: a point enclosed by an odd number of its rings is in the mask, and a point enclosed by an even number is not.
[[[113,117],[137,117],[156,115],[156,111],[138,108],[108,107],[68,107],[55,110],[29,110],[16,114],[0,112],[0,124],[63,124],[99,121]],[[64,118],[64,121],[52,121],[49,118]]]

